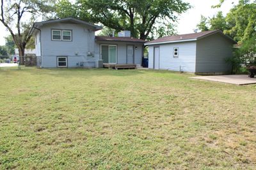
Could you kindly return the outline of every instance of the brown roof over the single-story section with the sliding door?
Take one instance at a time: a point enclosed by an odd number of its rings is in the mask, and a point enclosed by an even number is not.
[[[131,37],[111,37],[111,36],[95,36],[97,41],[124,41],[133,43],[146,43],[147,41]]]

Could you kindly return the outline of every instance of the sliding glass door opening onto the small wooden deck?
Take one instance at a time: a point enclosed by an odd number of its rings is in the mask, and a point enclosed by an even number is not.
[[[116,64],[116,45],[100,45],[100,56],[103,63]]]

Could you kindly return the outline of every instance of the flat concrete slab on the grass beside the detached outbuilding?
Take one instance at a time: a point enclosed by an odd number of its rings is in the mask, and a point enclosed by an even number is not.
[[[218,81],[235,85],[256,84],[256,78],[249,78],[248,75],[221,75],[221,76],[195,76],[191,77],[198,80]]]

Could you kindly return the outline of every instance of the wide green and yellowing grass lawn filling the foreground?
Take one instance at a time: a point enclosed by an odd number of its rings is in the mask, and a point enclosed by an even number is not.
[[[0,68],[0,169],[256,169],[256,86]]]

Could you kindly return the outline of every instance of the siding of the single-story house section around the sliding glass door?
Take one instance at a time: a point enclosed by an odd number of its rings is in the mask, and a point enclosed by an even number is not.
[[[142,62],[143,45],[141,43],[118,42],[118,41],[97,41],[95,43],[95,56],[100,59],[100,45],[116,45],[117,46],[117,64],[127,64],[127,45],[134,45],[134,64],[140,65]],[[135,50],[135,46],[137,49]]]

